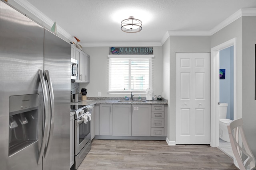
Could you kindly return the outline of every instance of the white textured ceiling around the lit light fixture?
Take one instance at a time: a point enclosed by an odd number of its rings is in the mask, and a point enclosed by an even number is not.
[[[166,31],[210,31],[256,0],[27,0],[81,43],[160,42]],[[142,21],[139,33],[120,22]]]

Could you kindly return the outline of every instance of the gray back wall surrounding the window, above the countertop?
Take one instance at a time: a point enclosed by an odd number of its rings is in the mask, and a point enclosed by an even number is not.
[[[108,53],[109,47],[83,47],[83,51],[90,55],[90,83],[80,83],[80,89],[87,89],[88,97],[124,97],[126,94],[108,94]],[[162,76],[162,46],[153,46],[154,72],[152,72],[152,89],[154,95],[162,95],[163,92],[163,76]],[[134,97],[138,97],[135,94]],[[142,94],[141,97],[146,97]]]

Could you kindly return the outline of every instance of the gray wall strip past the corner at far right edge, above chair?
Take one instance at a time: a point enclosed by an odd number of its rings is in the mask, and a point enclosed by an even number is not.
[[[256,100],[254,100],[256,16],[242,18],[242,118],[244,131],[256,156]]]

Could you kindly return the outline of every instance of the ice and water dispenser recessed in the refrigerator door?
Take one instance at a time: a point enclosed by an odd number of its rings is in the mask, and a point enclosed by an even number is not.
[[[38,94],[10,96],[9,156],[38,140]]]

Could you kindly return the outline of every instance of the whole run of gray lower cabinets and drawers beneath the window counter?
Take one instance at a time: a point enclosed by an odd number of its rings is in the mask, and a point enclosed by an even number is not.
[[[96,104],[95,136],[96,139],[154,137],[152,138],[154,140],[158,139],[155,137],[165,137],[167,136],[167,105]]]

